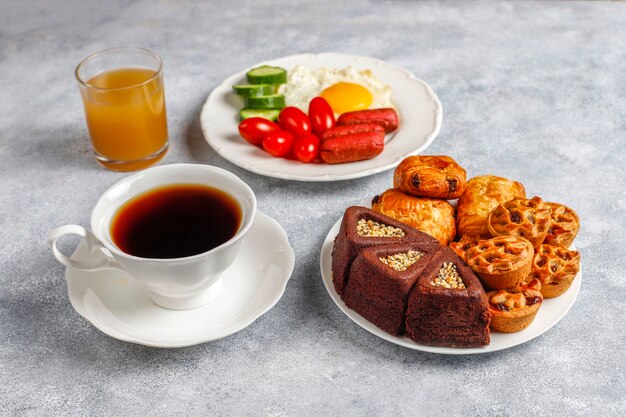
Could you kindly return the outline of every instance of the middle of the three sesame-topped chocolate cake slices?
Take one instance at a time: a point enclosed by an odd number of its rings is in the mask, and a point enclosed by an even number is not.
[[[438,243],[401,243],[363,249],[352,262],[343,300],[387,333],[404,333],[404,315],[413,285]]]

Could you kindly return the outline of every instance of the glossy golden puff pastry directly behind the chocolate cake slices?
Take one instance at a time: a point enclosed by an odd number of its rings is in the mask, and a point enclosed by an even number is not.
[[[414,197],[391,188],[374,197],[372,210],[428,233],[444,246],[456,234],[454,208],[446,200]]]

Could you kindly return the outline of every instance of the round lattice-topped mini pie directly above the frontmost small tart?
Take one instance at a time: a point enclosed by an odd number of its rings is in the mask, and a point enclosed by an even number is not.
[[[485,286],[500,290],[524,282],[534,253],[533,245],[523,237],[498,236],[470,247],[465,262]]]

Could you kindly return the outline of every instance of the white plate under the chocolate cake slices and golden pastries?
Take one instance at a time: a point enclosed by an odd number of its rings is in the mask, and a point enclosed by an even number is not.
[[[337,233],[339,233],[340,226],[341,219],[339,219],[328,232],[328,235],[324,240],[324,244],[322,245],[322,253],[320,255],[320,268],[322,270],[322,279],[324,280],[324,285],[326,286],[326,290],[328,290],[328,294],[330,294],[330,297],[341,309],[341,311],[343,311],[346,316],[350,317],[352,321],[354,321],[356,324],[382,339],[410,349],[421,350],[424,352],[443,353],[448,355],[466,355],[474,353],[495,352],[497,350],[507,349],[513,346],[520,345],[543,334],[552,326],[557,324],[563,317],[565,317],[569,309],[574,304],[574,301],[576,301],[576,297],[578,296],[578,292],[580,291],[580,282],[582,280],[581,272],[576,275],[576,277],[574,278],[574,282],[572,282],[572,286],[569,288],[569,290],[567,290],[567,292],[565,292],[565,294],[557,298],[551,298],[549,300],[543,301],[542,306],[539,309],[537,316],[535,317],[535,320],[531,323],[530,326],[517,333],[491,332],[491,343],[488,346],[480,348],[452,348],[420,345],[406,336],[392,336],[389,333],[381,330],[376,325],[367,321],[354,310],[349,309],[341,300],[339,295],[335,292],[332,277],[331,254],[333,251],[333,242],[335,240],[335,236],[337,236]],[[572,245],[571,249],[575,250],[576,248]]]

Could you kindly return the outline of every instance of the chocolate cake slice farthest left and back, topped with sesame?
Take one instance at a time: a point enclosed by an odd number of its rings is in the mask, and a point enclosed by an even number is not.
[[[434,237],[366,207],[346,209],[333,246],[333,284],[343,294],[352,261],[367,247],[395,243],[438,243]]]

